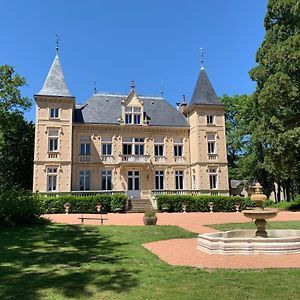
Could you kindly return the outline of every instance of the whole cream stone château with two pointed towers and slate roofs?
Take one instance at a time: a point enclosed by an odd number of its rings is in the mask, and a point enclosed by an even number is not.
[[[190,102],[95,93],[77,105],[55,56],[36,101],[33,191],[228,194],[224,105],[202,67]]]

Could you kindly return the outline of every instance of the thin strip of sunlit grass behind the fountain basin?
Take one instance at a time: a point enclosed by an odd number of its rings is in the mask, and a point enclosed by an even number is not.
[[[212,224],[206,225],[208,227],[220,230],[234,230],[234,229],[256,229],[254,222],[247,223],[226,223],[226,224]],[[300,221],[285,221],[285,222],[268,222],[266,226],[268,229],[299,229]]]

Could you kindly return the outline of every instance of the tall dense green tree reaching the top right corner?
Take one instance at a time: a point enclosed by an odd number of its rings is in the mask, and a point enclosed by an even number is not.
[[[269,0],[265,39],[250,71],[257,88],[252,106],[253,139],[262,147],[262,166],[279,186],[300,192],[300,2]]]

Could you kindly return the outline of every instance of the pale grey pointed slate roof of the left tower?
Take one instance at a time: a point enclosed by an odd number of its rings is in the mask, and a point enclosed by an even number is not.
[[[54,58],[45,83],[38,95],[71,97],[57,55]]]

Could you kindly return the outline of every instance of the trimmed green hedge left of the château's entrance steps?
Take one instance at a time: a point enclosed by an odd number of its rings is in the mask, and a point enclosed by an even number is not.
[[[95,213],[96,204],[102,204],[103,212],[125,211],[127,197],[124,194],[99,194],[93,196],[63,195],[58,197],[41,197],[43,213],[64,213],[64,204],[70,204],[70,213]]]

